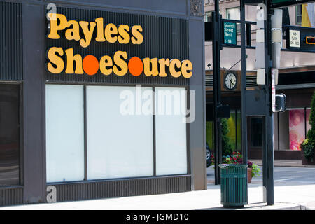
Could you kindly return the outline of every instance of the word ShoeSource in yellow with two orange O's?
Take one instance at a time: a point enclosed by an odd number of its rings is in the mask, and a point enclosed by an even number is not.
[[[66,55],[66,59],[64,56]],[[193,75],[193,64],[190,60],[180,61],[179,59],[158,59],[158,58],[144,58],[130,57],[128,59],[127,52],[116,51],[113,58],[109,55],[104,55],[100,59],[94,55],[87,55],[84,58],[73,54],[73,48],[63,50],[62,48],[52,47],[48,50],[47,69],[50,73],[68,74],[84,74],[93,76],[100,71],[104,76],[109,76],[111,73],[117,76],[125,76],[127,72],[132,76],[140,76],[144,73],[145,76],[160,76],[167,77],[167,73],[174,78],[183,76],[190,78]],[[66,65],[64,63],[66,61]],[[75,64],[75,68],[73,67]],[[65,69],[65,70],[64,70]]]

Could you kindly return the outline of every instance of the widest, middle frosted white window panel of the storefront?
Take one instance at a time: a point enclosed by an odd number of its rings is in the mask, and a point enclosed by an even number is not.
[[[127,98],[133,115],[120,111]],[[87,86],[87,179],[153,176],[153,116],[136,109],[136,87]]]

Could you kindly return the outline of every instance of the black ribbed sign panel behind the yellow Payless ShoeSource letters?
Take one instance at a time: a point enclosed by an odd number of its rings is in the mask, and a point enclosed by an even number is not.
[[[189,59],[188,45],[188,20],[181,18],[167,18],[161,16],[138,15],[131,13],[118,13],[102,10],[87,10],[78,8],[58,7],[57,13],[65,15],[67,20],[94,21],[95,18],[104,18],[104,24],[113,23],[114,25],[141,25],[143,28],[144,42],[141,45],[118,44],[97,42],[92,38],[90,45],[86,48],[80,46],[78,41],[69,41],[64,38],[46,38],[46,49],[52,47],[63,48],[64,50],[73,48],[74,54],[93,55],[100,58],[103,55],[113,55],[120,50],[128,53],[128,57],[137,56],[139,58],[169,58]],[[45,15],[43,15],[43,19]],[[47,21],[47,25],[49,22]],[[47,31],[48,33],[48,31]],[[60,31],[61,33],[61,31]],[[63,58],[65,56],[62,56]],[[64,58],[65,61],[65,58]],[[48,62],[48,61],[47,61]],[[169,72],[169,71],[166,71]],[[144,76],[104,76],[99,71],[94,76],[62,73],[54,74],[46,72],[46,80],[53,82],[75,82],[75,83],[117,83],[117,84],[143,84],[143,85],[189,85],[188,78],[167,77],[144,77]]]

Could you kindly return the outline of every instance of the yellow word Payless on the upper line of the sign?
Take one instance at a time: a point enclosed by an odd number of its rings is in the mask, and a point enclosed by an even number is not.
[[[94,30],[96,30],[97,42],[120,43],[127,44],[130,41],[133,44],[141,44],[144,41],[142,35],[142,27],[134,25],[131,28],[129,25],[119,25],[109,23],[104,28],[104,18],[96,18],[93,22],[67,20],[65,15],[57,13],[48,13],[50,18],[50,31],[48,38],[59,39],[58,31],[64,31],[64,36],[68,41],[79,41],[81,47],[87,48],[90,45]],[[131,34],[130,34],[131,32]],[[82,38],[80,34],[83,34]]]

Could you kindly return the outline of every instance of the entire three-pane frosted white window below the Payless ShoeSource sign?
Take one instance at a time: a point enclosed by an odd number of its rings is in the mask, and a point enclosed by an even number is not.
[[[186,100],[185,88],[46,85],[47,182],[187,174]]]

